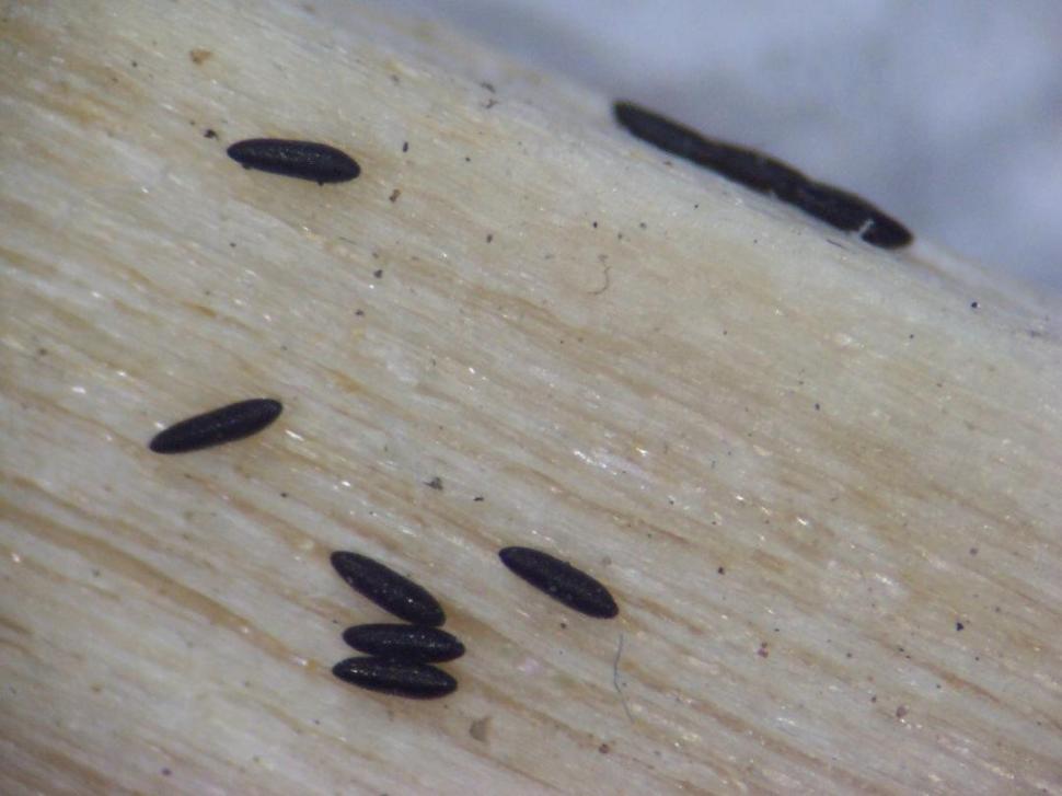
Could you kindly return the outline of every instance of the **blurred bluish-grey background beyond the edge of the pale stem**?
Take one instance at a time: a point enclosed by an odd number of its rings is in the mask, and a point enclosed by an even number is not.
[[[763,149],[1062,293],[1062,0],[385,7]]]

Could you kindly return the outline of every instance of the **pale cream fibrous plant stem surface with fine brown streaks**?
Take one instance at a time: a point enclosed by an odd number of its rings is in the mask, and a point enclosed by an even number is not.
[[[380,13],[4,7],[0,792],[1059,793],[1051,318]],[[333,678],[350,549],[455,693]]]

